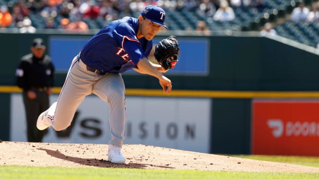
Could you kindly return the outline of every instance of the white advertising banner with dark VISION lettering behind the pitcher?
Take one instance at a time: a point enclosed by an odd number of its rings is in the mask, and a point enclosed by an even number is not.
[[[51,95],[50,102],[58,95]],[[127,96],[124,144],[144,144],[209,153],[210,98]],[[108,144],[109,106],[95,95],[85,98],[73,125],[56,132],[49,128],[43,142]],[[11,95],[10,141],[26,142],[21,94]]]

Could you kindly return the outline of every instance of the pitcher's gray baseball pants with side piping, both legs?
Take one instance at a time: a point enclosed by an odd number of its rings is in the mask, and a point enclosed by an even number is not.
[[[111,130],[109,144],[122,147],[126,122],[125,85],[122,76],[120,73],[98,75],[88,71],[86,65],[77,56],[73,59],[60,92],[55,114],[53,114],[54,126],[52,127],[59,131],[70,126],[77,108],[85,96],[92,93],[109,104]]]

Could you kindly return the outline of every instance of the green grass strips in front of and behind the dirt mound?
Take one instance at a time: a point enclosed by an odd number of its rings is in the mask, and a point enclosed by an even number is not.
[[[311,167],[319,167],[319,157],[233,155],[254,160],[283,162]],[[198,170],[157,170],[124,168],[62,168],[0,165],[0,178],[319,178],[319,173],[265,173],[265,172],[227,172]]]

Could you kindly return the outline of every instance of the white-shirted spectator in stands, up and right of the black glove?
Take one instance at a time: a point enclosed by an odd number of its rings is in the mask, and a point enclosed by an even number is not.
[[[235,13],[233,8],[229,7],[226,0],[220,2],[220,7],[214,15],[214,21],[233,21],[235,19]]]

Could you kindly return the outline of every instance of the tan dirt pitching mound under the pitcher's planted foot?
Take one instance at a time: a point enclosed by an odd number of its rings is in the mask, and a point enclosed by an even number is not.
[[[1,165],[319,173],[319,168],[314,167],[145,145],[124,145],[124,165],[107,162],[108,145],[102,144],[2,141],[0,151]]]

